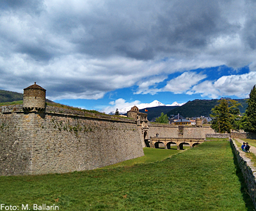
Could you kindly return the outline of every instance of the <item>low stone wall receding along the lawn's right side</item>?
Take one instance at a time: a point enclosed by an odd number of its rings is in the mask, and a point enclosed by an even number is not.
[[[252,161],[245,156],[246,152],[239,150],[234,140],[230,139],[230,145],[236,155],[237,162],[246,181],[248,192],[256,208],[256,168],[253,167]]]

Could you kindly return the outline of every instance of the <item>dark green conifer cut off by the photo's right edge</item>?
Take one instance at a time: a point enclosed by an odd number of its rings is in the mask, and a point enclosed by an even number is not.
[[[246,132],[256,132],[256,88],[253,86],[248,100],[248,107],[243,118],[243,126]]]

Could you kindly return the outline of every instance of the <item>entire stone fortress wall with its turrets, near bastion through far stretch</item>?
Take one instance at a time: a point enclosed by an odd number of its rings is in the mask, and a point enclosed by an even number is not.
[[[121,118],[45,106],[44,100],[44,88],[35,83],[24,89],[23,105],[0,107],[0,175],[95,169],[143,156],[154,137],[204,141],[215,134],[202,121],[198,127],[148,123],[136,106],[130,118]]]

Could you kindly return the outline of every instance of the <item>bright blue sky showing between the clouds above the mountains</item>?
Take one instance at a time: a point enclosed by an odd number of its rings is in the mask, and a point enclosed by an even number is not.
[[[211,68],[198,68],[196,70],[190,70],[189,72],[196,72],[196,74],[204,74],[207,75],[205,79],[202,81],[208,80],[208,81],[217,81],[220,79],[220,77],[224,75],[241,75],[241,74],[247,74],[250,72],[248,66],[244,66],[243,68],[234,69],[230,68],[228,66],[215,66]],[[155,89],[161,89],[164,86],[166,86],[167,82],[179,77],[183,72],[175,72],[173,74],[168,75],[164,81],[158,82],[150,87]],[[189,80],[189,79],[188,79]],[[202,82],[200,81],[200,82]],[[173,84],[173,86],[179,86],[179,84]],[[202,97],[200,93],[188,95],[186,94],[186,91],[183,93],[175,94],[170,91],[159,91],[155,93],[154,95],[147,93],[147,94],[135,94],[136,91],[138,91],[139,86],[134,85],[129,88],[122,88],[118,90],[109,91],[104,95],[103,98],[97,99],[97,100],[88,100],[88,99],[63,99],[63,100],[56,100],[56,102],[59,102],[61,104],[65,105],[71,105],[74,107],[81,107],[84,109],[89,110],[97,110],[100,111],[110,102],[114,102],[115,100],[119,98],[123,98],[125,102],[134,102],[136,100],[139,100],[141,103],[150,103],[154,100],[158,100],[159,102],[162,102],[163,104],[172,104],[173,102],[178,103],[184,103],[188,102],[189,100],[195,100],[195,99],[211,99],[209,97]],[[238,99],[237,96],[222,96],[222,97],[230,97],[234,99]],[[245,98],[246,96],[244,96]]]

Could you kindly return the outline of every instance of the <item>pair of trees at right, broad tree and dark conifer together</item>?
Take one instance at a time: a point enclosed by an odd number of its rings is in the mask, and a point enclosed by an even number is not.
[[[236,100],[219,100],[220,104],[212,108],[212,129],[216,132],[230,133],[231,130],[244,129],[246,132],[256,132],[256,88],[253,86],[248,99],[248,107],[244,116],[240,115]]]

